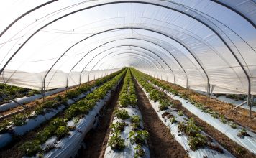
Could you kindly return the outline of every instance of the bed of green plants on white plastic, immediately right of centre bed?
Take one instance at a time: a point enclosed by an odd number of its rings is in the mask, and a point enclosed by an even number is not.
[[[163,123],[170,127],[170,131],[175,136],[175,139],[183,146],[191,157],[200,155],[213,157],[213,154],[218,157],[232,157],[232,154],[221,147],[208,134],[201,131],[199,126],[196,126],[193,119],[188,119],[183,114],[183,111],[178,111],[176,107],[181,103],[178,100],[168,97],[162,90],[155,88],[154,85],[148,82],[148,76],[132,69],[132,74],[137,79],[146,96],[149,97],[152,107],[157,112]],[[189,147],[189,148],[188,148]]]

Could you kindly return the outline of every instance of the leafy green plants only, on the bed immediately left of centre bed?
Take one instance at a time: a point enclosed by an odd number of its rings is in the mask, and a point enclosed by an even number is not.
[[[109,90],[111,90],[114,85],[116,85],[122,75],[124,75],[125,71],[123,70],[122,73],[116,75],[113,79],[109,80],[108,82],[104,83],[104,81],[96,81],[96,83],[103,85],[99,86],[93,90],[92,93],[89,93],[86,98],[77,103],[71,105],[68,109],[64,111],[62,116],[53,119],[50,121],[50,124],[46,126],[44,129],[39,131],[35,139],[32,141],[27,141],[22,144],[19,149],[25,156],[34,156],[35,154],[45,154],[52,149],[55,149],[54,145],[44,145],[45,142],[50,139],[51,137],[55,136],[56,141],[60,141],[60,139],[65,138],[66,136],[70,135],[70,131],[76,129],[76,125],[81,121],[81,119],[86,118],[86,115],[93,110],[96,103],[103,99]],[[111,76],[114,76],[111,75]],[[67,93],[67,96],[74,98],[78,96],[79,93],[75,91]],[[73,126],[68,126],[68,121],[72,120]]]

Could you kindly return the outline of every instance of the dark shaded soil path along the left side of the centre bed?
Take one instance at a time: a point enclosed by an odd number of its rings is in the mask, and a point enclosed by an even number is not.
[[[104,157],[106,144],[109,139],[109,126],[114,118],[113,111],[114,108],[117,106],[117,101],[123,85],[123,81],[124,80],[122,80],[122,83],[119,84],[117,90],[112,92],[111,99],[106,103],[106,106],[101,109],[99,125],[96,127],[96,129],[91,129],[91,131],[86,134],[86,137],[83,140],[83,142],[86,144],[86,149],[80,149],[78,151],[78,157]]]

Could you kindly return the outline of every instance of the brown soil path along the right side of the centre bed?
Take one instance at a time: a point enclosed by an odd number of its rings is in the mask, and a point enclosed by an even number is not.
[[[175,141],[170,134],[170,130],[158,118],[147,96],[135,80],[134,83],[143,124],[150,133],[150,138],[147,140],[150,148],[150,157],[188,157],[187,152],[178,141]]]

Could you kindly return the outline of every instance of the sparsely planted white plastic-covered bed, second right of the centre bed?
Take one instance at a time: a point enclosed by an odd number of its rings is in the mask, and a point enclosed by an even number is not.
[[[150,80],[149,83],[154,85],[155,88],[163,90],[171,98],[180,101],[184,108],[198,116],[199,119],[221,131],[222,134],[228,136],[232,141],[256,154],[256,134],[254,132],[244,129],[233,121],[225,119],[224,116],[221,116],[216,111],[204,108],[203,105],[191,101],[186,96],[180,95],[179,93],[171,93],[172,90],[161,84],[160,81],[154,80],[154,78],[149,76],[147,78],[148,81]]]

